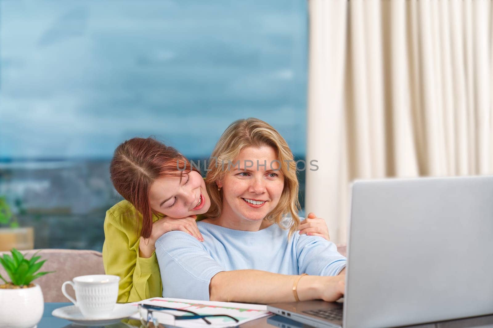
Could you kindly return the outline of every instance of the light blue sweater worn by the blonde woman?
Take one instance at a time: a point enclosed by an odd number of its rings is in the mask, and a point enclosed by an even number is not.
[[[209,300],[211,278],[220,271],[335,276],[346,266],[333,242],[297,231],[288,239],[288,230],[276,224],[254,232],[204,222],[197,226],[204,242],[182,231],[170,231],[156,241],[163,297]]]

